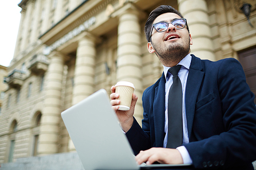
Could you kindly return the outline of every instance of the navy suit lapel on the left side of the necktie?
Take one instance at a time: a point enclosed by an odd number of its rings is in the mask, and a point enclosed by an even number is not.
[[[155,88],[153,104],[156,147],[163,147],[164,139],[164,112],[165,112],[165,77],[162,74],[159,85]]]

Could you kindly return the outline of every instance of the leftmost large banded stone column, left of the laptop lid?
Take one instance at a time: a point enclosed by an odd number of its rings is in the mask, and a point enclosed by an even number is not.
[[[58,52],[49,55],[50,64],[47,72],[47,85],[44,109],[42,110],[38,154],[58,152],[58,124],[61,112],[61,87],[64,56]]]

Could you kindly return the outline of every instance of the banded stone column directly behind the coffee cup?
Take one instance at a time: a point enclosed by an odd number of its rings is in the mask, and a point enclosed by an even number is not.
[[[129,4],[128,4],[129,5]],[[131,5],[130,5],[131,6]],[[123,8],[126,8],[124,6]],[[139,11],[131,6],[119,15],[117,42],[117,81],[129,81],[135,85],[138,102],[135,117],[138,123],[142,119],[142,59],[141,59],[141,28]]]

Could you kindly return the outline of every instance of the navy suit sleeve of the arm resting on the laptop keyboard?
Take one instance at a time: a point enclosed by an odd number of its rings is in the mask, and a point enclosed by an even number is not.
[[[237,60],[223,60],[216,69],[221,113],[215,114],[221,114],[220,122],[223,122],[225,130],[219,135],[190,142],[184,146],[196,168],[210,165],[223,168],[248,165],[256,159],[254,94],[250,91],[243,68]]]

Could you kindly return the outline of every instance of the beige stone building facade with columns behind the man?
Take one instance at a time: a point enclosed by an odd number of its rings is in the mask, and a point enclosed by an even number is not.
[[[241,7],[251,5],[250,22]],[[118,81],[135,85],[135,116],[143,90],[163,67],[147,52],[148,14],[171,5],[187,19],[202,59],[238,59],[256,93],[254,0],[23,0],[15,53],[0,117],[0,163],[74,151],[60,113]]]

